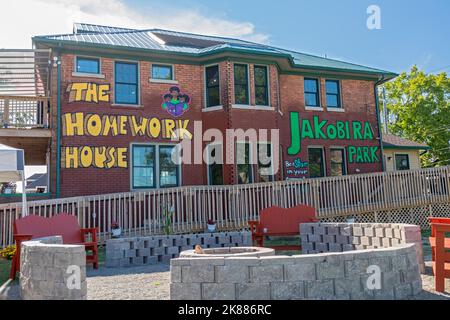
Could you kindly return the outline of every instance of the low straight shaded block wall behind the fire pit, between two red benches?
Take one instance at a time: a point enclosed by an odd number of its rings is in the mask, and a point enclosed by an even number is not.
[[[127,267],[169,262],[180,252],[202,248],[251,246],[249,231],[118,238],[106,241],[106,266]]]

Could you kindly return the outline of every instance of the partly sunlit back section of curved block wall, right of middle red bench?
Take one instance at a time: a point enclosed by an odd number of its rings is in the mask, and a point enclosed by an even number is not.
[[[420,226],[394,223],[302,223],[302,252],[343,252],[389,248],[413,243],[420,266],[425,273]]]

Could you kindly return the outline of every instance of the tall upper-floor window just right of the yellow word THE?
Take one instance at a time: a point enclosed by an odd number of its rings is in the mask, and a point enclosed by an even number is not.
[[[115,63],[115,102],[138,104],[138,64],[131,62]]]

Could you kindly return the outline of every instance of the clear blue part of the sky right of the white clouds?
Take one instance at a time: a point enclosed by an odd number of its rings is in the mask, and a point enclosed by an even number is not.
[[[128,0],[136,7],[148,1]],[[158,3],[160,2],[160,3]],[[250,22],[271,45],[395,72],[413,64],[428,72],[450,70],[450,1],[341,0],[151,1],[167,18],[174,10]],[[381,30],[366,27],[369,5],[381,9]]]

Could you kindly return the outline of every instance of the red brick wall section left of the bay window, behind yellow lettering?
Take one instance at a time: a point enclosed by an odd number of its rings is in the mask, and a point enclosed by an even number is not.
[[[96,82],[111,85],[111,102],[114,101],[114,61],[102,58],[102,74],[105,79],[73,77],[74,56],[62,56],[62,90],[65,91],[71,82]],[[173,84],[152,83],[149,81],[151,65],[141,61],[140,68],[140,107],[114,106],[110,103],[87,103],[68,101],[65,93],[62,99],[61,113],[84,112],[99,115],[135,115],[143,117],[157,117],[159,119],[172,118],[161,108],[162,94],[166,93]],[[203,108],[203,68],[194,65],[174,65],[175,79],[182,92],[191,96],[190,110],[181,119],[189,119],[188,130],[193,132],[193,121],[201,120]],[[168,139],[152,139],[148,137],[131,135],[118,136],[62,136],[61,145],[64,146],[116,146],[130,148],[132,142],[170,143]],[[99,194],[130,191],[130,149],[128,150],[128,168],[62,168],[61,169],[61,196],[76,196],[83,194]],[[202,166],[186,165],[182,167],[183,185],[203,184]]]

